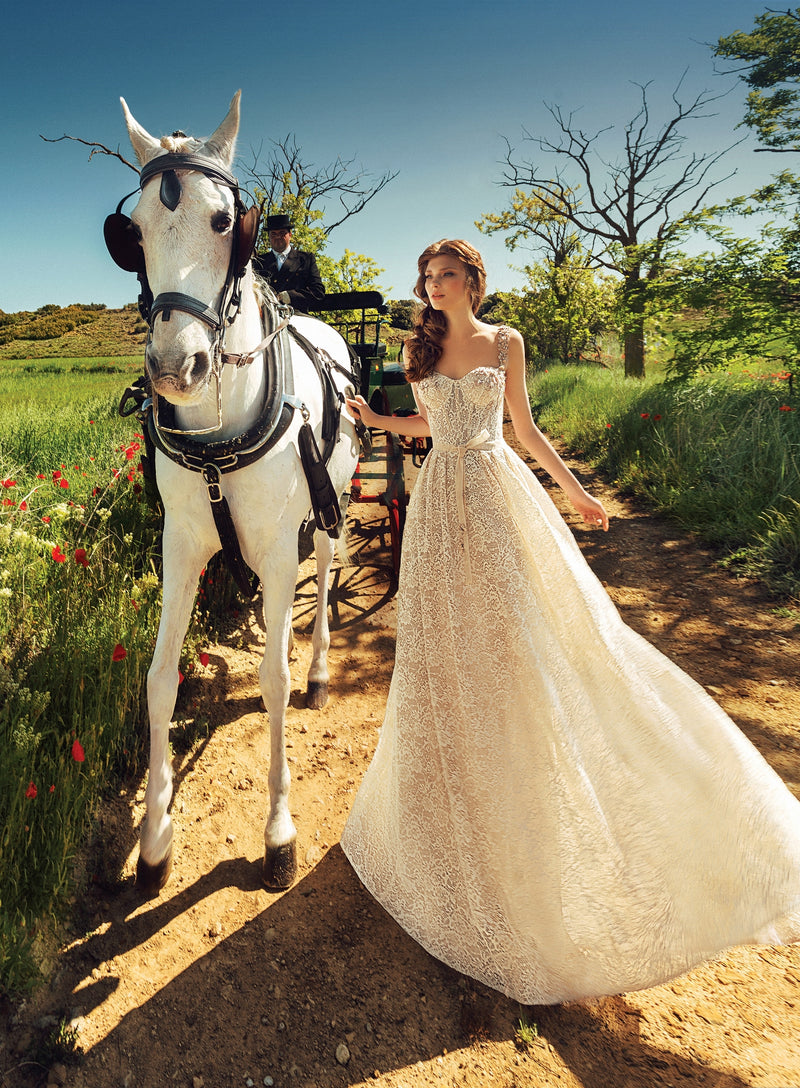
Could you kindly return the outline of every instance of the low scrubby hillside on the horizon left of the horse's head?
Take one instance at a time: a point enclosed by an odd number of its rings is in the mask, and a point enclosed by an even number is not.
[[[42,306],[20,313],[0,310],[0,359],[89,359],[139,355],[147,325],[135,304],[109,310],[102,304]]]

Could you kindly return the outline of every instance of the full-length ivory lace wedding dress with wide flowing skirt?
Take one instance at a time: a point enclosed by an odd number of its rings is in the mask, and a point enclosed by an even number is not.
[[[429,952],[527,1004],[797,939],[800,803],[623,623],[503,442],[507,331],[497,345],[497,366],[419,383],[433,449],[345,854]]]

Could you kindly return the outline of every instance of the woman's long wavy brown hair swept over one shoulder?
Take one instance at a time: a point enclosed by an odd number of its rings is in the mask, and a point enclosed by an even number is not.
[[[447,318],[434,310],[424,289],[424,274],[428,261],[433,257],[456,257],[464,264],[467,273],[467,290],[472,313],[483,300],[487,289],[487,270],[483,268],[481,255],[460,238],[442,238],[434,242],[420,255],[417,261],[419,276],[414,287],[414,294],[423,302],[421,311],[414,322],[414,332],[403,345],[403,357],[406,367],[406,378],[409,382],[420,382],[435,368],[442,358],[443,342],[447,332]]]

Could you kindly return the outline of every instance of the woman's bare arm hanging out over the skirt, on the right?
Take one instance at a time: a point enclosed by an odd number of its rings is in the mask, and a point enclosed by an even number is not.
[[[506,367],[505,398],[510,412],[514,433],[531,457],[564,491],[578,514],[593,526],[608,529],[608,515],[599,498],[593,498],[578,483],[575,475],[561,459],[555,449],[533,422],[530,400],[525,384],[525,346],[516,330],[508,337],[508,363]]]

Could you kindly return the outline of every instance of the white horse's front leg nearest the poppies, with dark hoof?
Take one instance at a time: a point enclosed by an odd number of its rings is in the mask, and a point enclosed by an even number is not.
[[[147,673],[150,765],[136,866],[136,882],[149,895],[163,888],[172,868],[170,719],[177,696],[181,647],[192,616],[197,580],[207,558],[197,542],[164,528],[163,603],[156,650]]]

